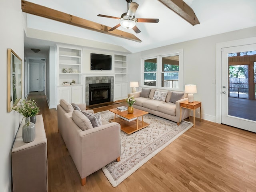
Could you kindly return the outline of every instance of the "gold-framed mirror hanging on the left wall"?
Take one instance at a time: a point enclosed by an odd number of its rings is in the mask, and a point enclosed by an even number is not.
[[[7,49],[7,112],[22,98],[22,60]]]

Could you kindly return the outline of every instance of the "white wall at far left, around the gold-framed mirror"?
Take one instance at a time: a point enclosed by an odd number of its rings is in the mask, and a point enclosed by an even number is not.
[[[7,113],[7,49],[12,48],[24,63],[23,15],[20,0],[0,1],[0,191],[11,191],[12,143],[22,117],[17,112]],[[24,86],[24,65],[22,66],[22,85]],[[24,88],[22,90],[24,98]]]

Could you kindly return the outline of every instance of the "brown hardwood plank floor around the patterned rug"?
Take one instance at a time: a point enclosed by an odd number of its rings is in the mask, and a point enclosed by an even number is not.
[[[48,109],[42,92],[31,93],[29,98],[38,102],[44,118],[48,192],[256,191],[256,134],[198,119],[195,128],[182,134],[116,188],[102,170],[88,176],[86,185],[81,186],[78,171],[58,133],[56,110]]]

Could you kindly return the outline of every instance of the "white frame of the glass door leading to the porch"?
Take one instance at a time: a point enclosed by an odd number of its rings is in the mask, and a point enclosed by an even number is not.
[[[231,106],[229,106],[229,102],[232,99],[232,97],[230,97],[231,95],[229,90],[230,71],[228,65],[228,54],[249,52],[254,50],[256,50],[256,44],[222,48],[221,52],[221,123],[252,132],[256,132],[256,121],[230,115],[231,113],[229,111],[229,108]],[[254,104],[256,106],[256,100],[254,101]],[[235,105],[235,110],[238,110],[239,113],[243,113],[243,109],[241,106],[236,106],[236,103],[233,103],[233,105]]]

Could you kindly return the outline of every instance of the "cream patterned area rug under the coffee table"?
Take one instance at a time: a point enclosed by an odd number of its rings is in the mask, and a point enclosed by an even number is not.
[[[110,120],[114,118],[114,113],[101,112],[101,117]],[[113,187],[118,186],[193,126],[193,124],[185,121],[182,121],[178,126],[175,122],[151,114],[143,116],[143,120],[150,125],[130,135],[121,131],[120,162],[113,161],[102,168]]]

